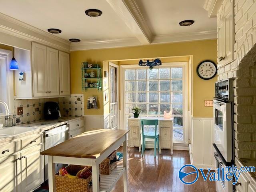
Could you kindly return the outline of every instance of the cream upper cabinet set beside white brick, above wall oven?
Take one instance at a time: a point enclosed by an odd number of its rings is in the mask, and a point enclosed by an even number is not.
[[[218,66],[234,60],[234,1],[227,3],[218,18]]]

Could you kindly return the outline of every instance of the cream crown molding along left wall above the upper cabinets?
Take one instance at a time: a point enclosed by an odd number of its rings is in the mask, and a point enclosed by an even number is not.
[[[70,52],[70,42],[0,13],[0,32]]]

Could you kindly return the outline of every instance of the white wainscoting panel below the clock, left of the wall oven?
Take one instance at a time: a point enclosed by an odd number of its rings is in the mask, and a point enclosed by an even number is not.
[[[212,168],[214,165],[213,118],[192,118],[192,143],[190,161],[197,168]]]

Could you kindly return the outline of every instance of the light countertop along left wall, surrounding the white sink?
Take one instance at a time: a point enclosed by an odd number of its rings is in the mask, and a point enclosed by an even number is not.
[[[32,135],[35,133],[39,133],[39,132],[42,132],[42,131],[45,131],[45,130],[48,130],[48,129],[51,129],[54,127],[58,127],[63,124],[67,124],[69,122],[76,121],[79,119],[84,119],[84,117],[83,116],[80,116],[80,117],[69,116],[69,117],[61,117],[56,120],[40,120],[40,121],[35,121],[35,122],[30,122],[30,123],[19,124],[16,126],[33,127],[34,129],[32,129],[31,131],[28,131],[26,133],[17,134],[15,136],[0,135],[0,143],[11,141],[11,140],[21,138],[24,136],[28,136],[28,135]],[[13,127],[16,127],[16,126],[13,126]]]

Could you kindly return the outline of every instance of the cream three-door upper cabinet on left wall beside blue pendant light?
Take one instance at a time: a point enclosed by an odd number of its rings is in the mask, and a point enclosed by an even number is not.
[[[70,95],[69,54],[32,42],[32,53],[15,50],[21,71],[15,72],[16,98],[52,98]],[[16,57],[16,56],[15,56]],[[25,58],[24,58],[25,57]],[[32,57],[32,63],[30,62]],[[19,73],[26,78],[19,80]],[[26,90],[26,91],[25,91]]]

